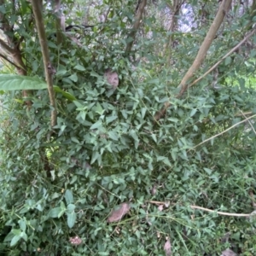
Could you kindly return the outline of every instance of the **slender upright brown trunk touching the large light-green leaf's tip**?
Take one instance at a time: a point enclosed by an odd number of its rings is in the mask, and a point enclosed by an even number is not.
[[[48,84],[48,92],[49,92],[49,102],[50,106],[53,108],[51,110],[51,126],[55,126],[57,119],[57,111],[56,111],[56,102],[55,102],[55,92],[53,89],[53,81],[52,81],[52,67],[49,61],[49,49],[46,40],[46,34],[44,30],[44,20],[42,15],[42,6],[38,1],[32,1],[32,9],[33,14],[35,16],[36,24],[38,27],[38,37],[42,49],[42,55],[44,60],[44,73],[46,78],[46,83]]]

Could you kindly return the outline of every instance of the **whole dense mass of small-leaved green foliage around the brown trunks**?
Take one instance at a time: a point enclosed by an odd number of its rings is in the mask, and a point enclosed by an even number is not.
[[[29,16],[27,2],[22,3],[20,10]],[[190,207],[253,212],[255,123],[250,119],[227,131],[245,119],[245,112],[256,112],[255,90],[242,79],[252,67],[228,60],[218,78],[221,90],[214,89],[208,76],[176,99],[177,84],[206,29],[177,32],[175,39],[181,43],[172,56],[178,61],[168,67],[158,47],[166,43],[166,32],[154,25],[156,19],[147,18],[148,34],[138,32],[137,51],[132,53],[143,59],[136,65],[124,53],[133,3],[121,11],[120,1],[103,1],[95,11],[107,3],[117,9],[110,9],[106,26],[96,26],[80,39],[82,47],[70,38],[60,47],[49,38],[51,61],[57,67],[53,132],[33,31],[24,32],[29,76],[0,76],[0,90],[5,91],[0,117],[1,255],[165,255],[167,236],[173,255],[220,255],[227,247],[254,255],[253,218]],[[71,9],[73,1],[64,6]],[[148,9],[154,12],[152,6]],[[44,21],[52,35],[48,11]],[[17,26],[19,32],[26,19]],[[211,57],[217,60],[229,49],[230,39],[224,39],[214,42],[202,72],[211,67]],[[109,90],[104,80],[107,68],[119,73],[117,90]],[[22,104],[19,90],[33,90],[30,109]],[[155,122],[154,113],[165,102],[172,106]],[[128,201],[130,212],[119,222],[109,222],[112,210]],[[230,239],[223,242],[228,232]],[[77,246],[70,242],[75,236],[82,239]]]

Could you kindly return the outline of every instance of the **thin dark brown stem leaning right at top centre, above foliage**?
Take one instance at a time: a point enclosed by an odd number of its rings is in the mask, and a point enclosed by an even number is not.
[[[128,35],[128,38],[131,38],[131,42],[129,42],[126,45],[126,49],[125,49],[126,54],[131,51],[132,45],[136,38],[136,32],[140,26],[141,20],[143,19],[143,11],[145,9],[146,4],[147,4],[147,0],[142,0],[142,2],[139,3],[138,9],[137,9],[137,14],[135,16],[135,21],[132,26],[131,33]]]

